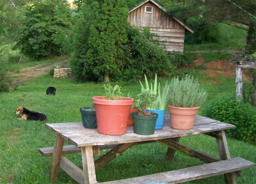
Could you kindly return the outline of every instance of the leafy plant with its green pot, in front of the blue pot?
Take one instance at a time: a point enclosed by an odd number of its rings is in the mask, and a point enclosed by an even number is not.
[[[146,78],[145,78],[146,80]],[[138,112],[132,112],[133,118],[133,132],[139,135],[152,135],[155,132],[155,124],[157,122],[158,114],[147,111],[147,108],[152,108],[156,101],[157,93],[153,91],[146,83],[146,89],[141,85],[141,93],[138,95]]]

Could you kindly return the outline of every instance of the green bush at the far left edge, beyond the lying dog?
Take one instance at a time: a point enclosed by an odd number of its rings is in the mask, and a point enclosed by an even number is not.
[[[7,76],[7,65],[3,61],[3,59],[0,58],[0,92],[9,92],[11,85],[11,78]]]

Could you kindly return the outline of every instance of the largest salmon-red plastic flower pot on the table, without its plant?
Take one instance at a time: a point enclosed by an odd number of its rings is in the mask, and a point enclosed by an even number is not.
[[[105,100],[102,98],[103,96],[93,97],[98,133],[125,134],[133,99],[123,97],[123,100]]]

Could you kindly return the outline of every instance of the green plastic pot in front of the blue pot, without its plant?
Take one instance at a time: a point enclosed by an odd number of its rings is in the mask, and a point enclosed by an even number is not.
[[[152,135],[155,132],[155,124],[157,123],[158,114],[151,113],[157,116],[139,116],[138,112],[132,112],[133,132],[139,135]]]

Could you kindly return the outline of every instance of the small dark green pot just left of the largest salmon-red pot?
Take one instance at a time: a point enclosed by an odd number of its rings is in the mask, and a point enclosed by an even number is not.
[[[89,109],[91,107],[83,107],[85,109]],[[87,129],[95,129],[97,128],[97,119],[95,111],[86,111],[80,108],[80,112],[82,114],[83,126]]]

